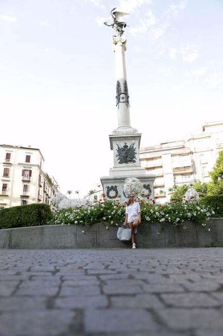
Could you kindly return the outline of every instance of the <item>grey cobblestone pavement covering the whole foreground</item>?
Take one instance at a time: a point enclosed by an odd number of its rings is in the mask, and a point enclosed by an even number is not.
[[[222,336],[223,248],[0,250],[0,336]]]

